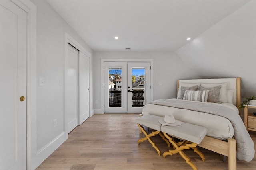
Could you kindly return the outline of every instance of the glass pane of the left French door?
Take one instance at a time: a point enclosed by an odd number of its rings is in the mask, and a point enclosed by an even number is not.
[[[109,107],[122,107],[122,68],[108,68]]]

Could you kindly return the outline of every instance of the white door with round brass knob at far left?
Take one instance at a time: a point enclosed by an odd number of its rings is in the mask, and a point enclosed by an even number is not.
[[[0,0],[0,170],[26,169],[27,13]]]

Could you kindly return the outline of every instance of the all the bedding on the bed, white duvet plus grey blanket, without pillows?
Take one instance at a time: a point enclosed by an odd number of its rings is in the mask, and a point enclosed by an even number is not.
[[[234,136],[237,142],[237,158],[248,162],[254,158],[254,143],[244,127],[238,109],[232,104],[181,99],[155,100],[142,108],[142,114],[162,117],[173,114],[180,121],[206,127],[207,136],[221,140]]]

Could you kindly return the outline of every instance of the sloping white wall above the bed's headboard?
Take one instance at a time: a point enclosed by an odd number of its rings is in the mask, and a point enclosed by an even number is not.
[[[255,9],[251,0],[176,53],[200,77],[240,76],[241,96],[256,95]]]

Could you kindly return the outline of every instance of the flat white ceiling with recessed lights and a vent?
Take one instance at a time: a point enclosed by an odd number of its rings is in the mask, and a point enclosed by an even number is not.
[[[47,1],[94,51],[175,51],[249,0]]]

